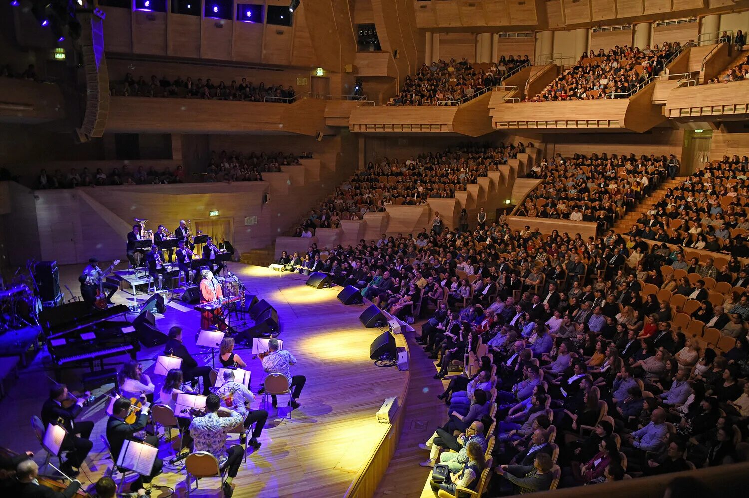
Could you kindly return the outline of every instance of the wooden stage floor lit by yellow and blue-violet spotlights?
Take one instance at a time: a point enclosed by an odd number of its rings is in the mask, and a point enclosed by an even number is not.
[[[64,268],[61,284],[68,283],[76,292],[78,269]],[[291,420],[270,416],[260,438],[261,448],[249,452],[247,461],[234,479],[234,497],[342,497],[363,464],[368,461],[377,443],[386,433],[385,424],[375,419],[384,398],[404,395],[407,371],[398,368],[377,368],[369,359],[369,345],[381,333],[365,329],[358,317],[363,306],[343,306],[336,299],[338,290],[315,290],[306,287],[306,277],[276,273],[266,268],[232,264],[233,271],[251,294],[267,299],[276,308],[281,321],[284,348],[291,351],[298,364],[293,374],[304,374],[306,386],[300,397],[302,406],[294,410]],[[67,293],[66,293],[67,294]],[[139,300],[148,296],[139,295]],[[129,298],[129,300],[126,300]],[[116,303],[132,303],[133,297],[122,292]],[[176,306],[174,306],[176,305]],[[130,320],[135,315],[130,315]],[[184,342],[198,358],[210,364],[210,355],[198,355],[195,332],[199,315],[192,306],[172,303],[164,315],[157,315],[157,327],[167,332],[169,327],[183,328]],[[404,346],[402,336],[396,336]],[[138,357],[147,373],[153,371],[153,360],[161,347],[142,350]],[[262,369],[258,359],[252,360],[249,350],[236,350],[252,371],[251,389],[257,392]],[[127,356],[110,359],[121,363]],[[17,451],[31,449],[35,459],[43,462],[43,451],[31,431],[30,419],[39,414],[46,398],[50,371],[46,351],[21,371],[7,398],[0,402],[0,427],[4,435],[0,446]],[[70,371],[64,380],[74,388],[80,371]],[[151,376],[159,389],[163,377]],[[105,398],[106,399],[106,398]],[[279,404],[285,404],[279,396]],[[260,403],[260,397],[253,407]],[[88,457],[79,479],[85,484],[95,482],[109,466],[100,434],[106,425],[103,401],[86,407],[82,419],[94,420],[96,428],[91,440],[94,449]],[[285,407],[280,407],[282,412]],[[283,414],[283,413],[282,413]],[[229,439],[234,443],[234,435]],[[160,456],[168,459],[171,449],[162,443]],[[43,470],[44,473],[44,470]],[[175,494],[186,496],[184,471],[165,472],[154,479],[154,486],[170,486]],[[218,479],[201,479],[200,488],[191,496],[221,496]],[[154,491],[154,497],[159,494]]]

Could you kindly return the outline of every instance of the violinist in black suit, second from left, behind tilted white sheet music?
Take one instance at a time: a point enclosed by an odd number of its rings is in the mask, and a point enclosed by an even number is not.
[[[136,421],[132,424],[125,422],[127,416],[130,415],[130,399],[118,398],[115,400],[114,407],[112,407],[112,416],[106,422],[106,440],[109,442],[109,449],[112,451],[112,459],[116,462],[120,456],[122,445],[126,440],[133,440],[133,434],[138,431],[142,431],[148,422],[148,410],[150,410],[151,404],[148,401],[143,401],[143,406],[140,409],[140,414]],[[158,436],[147,436],[144,440],[145,443],[158,447],[159,437]],[[148,476],[138,476],[138,479],[133,481],[130,485],[130,490],[133,493],[137,493],[140,488],[151,488],[151,479],[158,476],[164,466],[161,458],[157,458],[154,461],[154,467],[151,468],[151,473]]]

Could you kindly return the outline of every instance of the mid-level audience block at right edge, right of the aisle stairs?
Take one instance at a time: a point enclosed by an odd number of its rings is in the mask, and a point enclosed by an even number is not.
[[[713,160],[643,213],[628,234],[678,246],[749,256],[749,158]]]

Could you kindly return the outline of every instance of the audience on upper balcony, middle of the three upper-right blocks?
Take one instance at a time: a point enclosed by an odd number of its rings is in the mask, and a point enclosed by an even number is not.
[[[597,100],[609,94],[614,98],[629,97],[643,83],[660,74],[679,50],[678,42],[644,50],[629,46],[617,46],[606,53],[599,49],[597,54],[591,50],[540,94],[527,96],[526,102]]]

